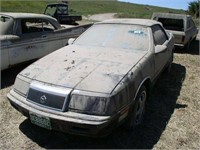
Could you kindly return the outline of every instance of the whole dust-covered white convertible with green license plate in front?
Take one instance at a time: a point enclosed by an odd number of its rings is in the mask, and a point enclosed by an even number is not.
[[[69,41],[18,74],[12,106],[33,124],[72,134],[140,124],[152,85],[170,70],[172,34],[157,21],[114,19]]]

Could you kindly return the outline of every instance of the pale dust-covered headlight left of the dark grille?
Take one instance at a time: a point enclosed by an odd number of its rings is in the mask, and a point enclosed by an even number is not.
[[[18,75],[15,79],[14,90],[20,94],[27,95],[29,85],[27,78]]]

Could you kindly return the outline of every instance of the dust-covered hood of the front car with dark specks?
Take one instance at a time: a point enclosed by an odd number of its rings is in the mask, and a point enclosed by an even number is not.
[[[146,53],[70,45],[33,63],[20,75],[76,90],[111,93]]]

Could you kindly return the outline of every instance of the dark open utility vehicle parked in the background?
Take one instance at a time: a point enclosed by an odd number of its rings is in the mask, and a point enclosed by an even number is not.
[[[67,4],[49,4],[44,14],[56,18],[60,24],[78,25],[76,21],[82,20],[82,16],[69,16]]]

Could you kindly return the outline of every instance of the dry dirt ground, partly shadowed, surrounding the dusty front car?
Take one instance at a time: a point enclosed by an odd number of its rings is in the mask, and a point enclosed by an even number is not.
[[[189,50],[176,50],[170,74],[158,79],[144,122],[132,132],[123,127],[104,138],[49,131],[11,107],[6,94],[16,75],[30,63],[3,71],[0,90],[0,149],[199,149],[199,37]]]

